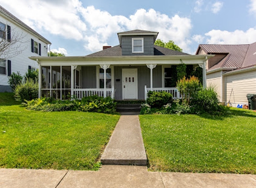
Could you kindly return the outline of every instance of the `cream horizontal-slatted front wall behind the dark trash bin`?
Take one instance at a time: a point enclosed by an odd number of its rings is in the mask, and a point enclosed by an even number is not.
[[[247,94],[256,94],[256,71],[241,74],[228,75],[225,77],[226,101],[232,106],[248,104]]]

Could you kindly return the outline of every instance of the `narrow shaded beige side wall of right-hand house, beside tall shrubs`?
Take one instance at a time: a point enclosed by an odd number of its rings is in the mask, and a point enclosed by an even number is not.
[[[215,72],[215,73],[210,73],[210,74],[207,74],[206,75],[206,85],[207,87],[209,86],[213,86],[215,91],[217,92],[218,94],[218,98],[219,98],[219,101],[222,102],[222,80],[221,80],[221,71],[218,71],[218,72]]]

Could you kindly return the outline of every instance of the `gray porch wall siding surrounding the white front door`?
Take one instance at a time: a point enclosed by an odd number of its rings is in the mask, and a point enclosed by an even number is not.
[[[150,87],[150,69],[143,66],[114,66],[114,86],[116,100],[122,100],[122,69],[138,69],[138,99],[144,99],[145,85]],[[117,82],[120,79],[120,82]],[[153,87],[162,87],[162,66],[153,69]]]

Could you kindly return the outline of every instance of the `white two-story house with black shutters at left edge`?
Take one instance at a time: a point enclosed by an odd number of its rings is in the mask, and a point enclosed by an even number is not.
[[[47,56],[50,41],[0,6],[0,92],[11,92],[8,76],[38,69],[31,56]],[[3,50],[8,45],[7,50]]]

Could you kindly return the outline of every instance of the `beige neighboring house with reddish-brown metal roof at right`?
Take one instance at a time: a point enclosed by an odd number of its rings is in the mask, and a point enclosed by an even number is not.
[[[206,61],[206,83],[219,100],[237,107],[256,94],[256,43],[250,45],[199,45],[196,54],[215,56]]]

